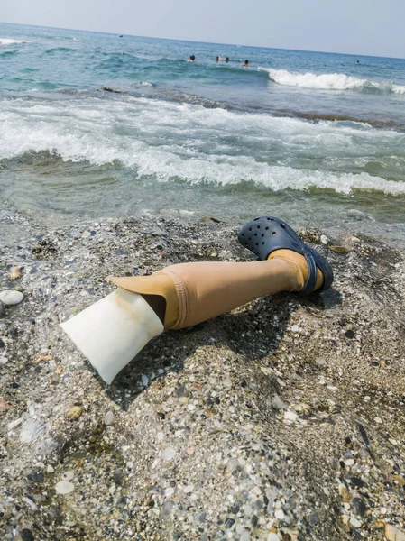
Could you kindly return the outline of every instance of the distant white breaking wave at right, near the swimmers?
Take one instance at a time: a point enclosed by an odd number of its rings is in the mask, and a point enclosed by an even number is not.
[[[287,69],[259,68],[267,71],[269,78],[287,87],[317,88],[320,90],[357,90],[373,94],[405,94],[405,86],[391,81],[370,81],[344,73],[299,73]]]

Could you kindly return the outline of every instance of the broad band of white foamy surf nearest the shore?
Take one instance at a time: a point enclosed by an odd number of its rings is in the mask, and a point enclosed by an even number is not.
[[[403,134],[367,125],[314,124],[124,96],[3,100],[0,123],[0,159],[50,151],[65,161],[120,163],[161,182],[405,193],[405,182],[347,172],[364,170],[368,161],[381,162],[384,174],[391,168],[392,177],[405,167]]]

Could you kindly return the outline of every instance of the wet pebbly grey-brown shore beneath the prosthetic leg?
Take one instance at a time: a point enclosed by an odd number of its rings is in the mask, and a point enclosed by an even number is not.
[[[332,291],[165,333],[107,386],[58,324],[108,274],[249,252],[210,218],[21,230],[0,248],[0,290],[24,295],[0,316],[5,538],[405,538],[404,252],[306,230]]]

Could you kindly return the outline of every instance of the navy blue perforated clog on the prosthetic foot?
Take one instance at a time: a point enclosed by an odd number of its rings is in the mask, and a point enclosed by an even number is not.
[[[332,267],[327,260],[314,248],[303,243],[290,225],[280,218],[272,216],[255,218],[239,231],[238,241],[263,261],[276,250],[292,250],[303,255],[308,263],[308,279],[299,295],[307,296],[313,293],[317,283],[317,267],[324,275],[324,283],[317,289],[317,293],[329,289],[333,282]]]

